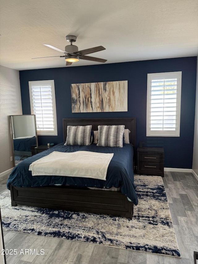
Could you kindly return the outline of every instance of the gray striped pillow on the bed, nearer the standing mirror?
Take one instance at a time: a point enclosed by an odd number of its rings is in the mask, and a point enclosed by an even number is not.
[[[67,139],[64,145],[90,145],[92,125],[67,126]]]

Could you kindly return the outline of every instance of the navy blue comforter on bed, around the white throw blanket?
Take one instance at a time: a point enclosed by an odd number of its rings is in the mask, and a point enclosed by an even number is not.
[[[106,180],[92,178],[67,177],[67,176],[32,176],[29,165],[35,160],[42,158],[53,151],[74,152],[74,151],[93,151],[101,153],[114,153],[107,169]],[[49,186],[54,184],[69,184],[81,187],[111,188],[120,187],[123,194],[127,195],[135,205],[138,204],[134,185],[133,174],[133,147],[130,144],[123,145],[123,148],[98,147],[96,144],[88,146],[65,146],[64,143],[58,144],[53,148],[47,149],[32,157],[24,159],[11,172],[7,181],[16,187],[36,187]]]

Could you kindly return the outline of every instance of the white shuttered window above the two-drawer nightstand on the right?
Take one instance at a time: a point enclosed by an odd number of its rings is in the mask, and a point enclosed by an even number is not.
[[[179,136],[182,72],[149,73],[147,136]]]

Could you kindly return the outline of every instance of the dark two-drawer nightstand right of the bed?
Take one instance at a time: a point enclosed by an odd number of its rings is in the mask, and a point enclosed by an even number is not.
[[[137,174],[151,174],[164,177],[164,149],[138,148]]]

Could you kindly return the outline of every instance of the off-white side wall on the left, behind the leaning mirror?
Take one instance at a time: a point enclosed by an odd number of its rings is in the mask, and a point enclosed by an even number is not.
[[[22,115],[19,71],[0,66],[0,173],[14,167],[10,115]]]

